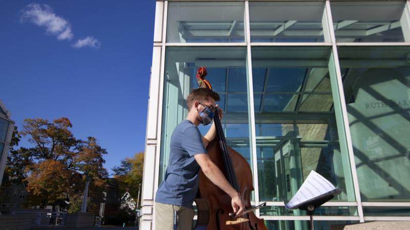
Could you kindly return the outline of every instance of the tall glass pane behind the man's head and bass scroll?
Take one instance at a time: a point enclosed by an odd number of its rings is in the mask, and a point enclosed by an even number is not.
[[[166,50],[165,82],[162,114],[162,144],[160,168],[165,172],[169,158],[171,134],[188,114],[186,99],[191,89],[197,88],[196,71],[206,66],[213,90],[220,95],[217,102],[223,110],[222,127],[228,145],[242,154],[252,165],[246,48],[170,47]],[[199,125],[204,135],[210,126]]]

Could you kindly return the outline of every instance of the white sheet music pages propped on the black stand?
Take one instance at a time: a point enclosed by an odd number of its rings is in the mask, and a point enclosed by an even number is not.
[[[308,178],[306,178],[302,186],[296,192],[295,196],[293,196],[285,206],[288,209],[293,209],[305,201],[335,190],[335,186],[333,186],[329,180],[326,180],[319,173],[312,170]]]

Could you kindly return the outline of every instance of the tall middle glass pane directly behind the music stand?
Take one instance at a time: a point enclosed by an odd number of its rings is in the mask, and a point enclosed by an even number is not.
[[[311,170],[343,189],[334,200],[355,200],[347,149],[340,144],[343,126],[335,116],[330,56],[328,47],[252,48],[262,201],[291,199]]]

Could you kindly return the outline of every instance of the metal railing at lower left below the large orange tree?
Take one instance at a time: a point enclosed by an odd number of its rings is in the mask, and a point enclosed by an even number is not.
[[[11,212],[11,215],[31,217],[32,226],[66,225],[67,213],[56,212]]]

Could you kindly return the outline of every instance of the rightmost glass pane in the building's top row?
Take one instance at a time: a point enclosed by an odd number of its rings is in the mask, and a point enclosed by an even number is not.
[[[409,28],[404,6],[405,1],[333,1],[331,8],[336,41],[408,42]]]

